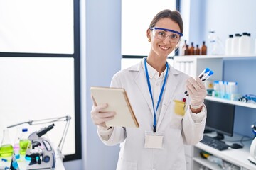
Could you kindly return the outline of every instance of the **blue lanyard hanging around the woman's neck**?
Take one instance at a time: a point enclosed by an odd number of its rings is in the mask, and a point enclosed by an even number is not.
[[[161,92],[159,94],[159,100],[157,101],[157,106],[156,106],[156,110],[154,109],[154,99],[153,99],[153,94],[152,94],[152,90],[151,90],[151,84],[150,84],[150,81],[149,81],[149,72],[148,72],[148,69],[146,67],[146,58],[144,60],[144,64],[145,64],[145,72],[146,72],[146,80],[147,80],[147,83],[148,83],[148,86],[149,86],[149,93],[150,93],[150,96],[151,96],[151,101],[152,101],[152,106],[153,106],[153,111],[154,111],[154,124],[153,124],[153,132],[156,132],[156,112],[157,112],[157,109],[159,108],[159,104],[160,104],[160,101],[161,101],[161,97],[163,96],[163,92],[164,92],[164,86],[166,84],[166,79],[168,77],[168,70],[169,70],[169,65],[168,63],[166,62],[166,74],[165,74],[165,77],[164,77],[164,83],[163,83],[163,86],[161,88]]]

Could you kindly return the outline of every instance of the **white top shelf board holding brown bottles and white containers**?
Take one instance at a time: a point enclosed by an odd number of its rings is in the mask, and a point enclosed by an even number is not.
[[[253,54],[253,55],[178,55],[178,56],[175,56],[175,59],[182,60],[184,58],[210,59],[210,58],[252,58],[252,57],[256,57],[256,54]]]

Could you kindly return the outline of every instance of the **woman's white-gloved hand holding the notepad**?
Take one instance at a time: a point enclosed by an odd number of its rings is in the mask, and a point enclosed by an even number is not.
[[[93,96],[92,96],[92,101],[93,101],[93,106],[91,111],[92,122],[95,125],[100,125],[102,127],[107,128],[105,122],[108,120],[112,120],[116,113],[114,111],[103,111],[105,108],[107,108],[107,103],[97,106],[97,103],[95,102],[95,99],[93,98]]]

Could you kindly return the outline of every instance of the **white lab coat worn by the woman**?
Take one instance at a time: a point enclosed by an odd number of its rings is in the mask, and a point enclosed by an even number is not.
[[[186,169],[184,144],[194,145],[202,139],[206,108],[203,106],[202,112],[198,113],[201,118],[196,120],[197,115],[191,113],[188,107],[190,99],[187,97],[185,115],[174,113],[174,100],[182,101],[186,98],[184,91],[188,75],[170,66],[156,127],[157,132],[164,135],[164,148],[144,148],[145,132],[153,130],[154,112],[143,64],[142,60],[137,65],[117,72],[111,83],[111,86],[122,87],[127,91],[139,128],[114,127],[112,130],[100,130],[97,127],[98,134],[105,145],[120,143],[117,170]],[[102,137],[102,134],[106,134],[104,131],[109,132],[107,139]]]

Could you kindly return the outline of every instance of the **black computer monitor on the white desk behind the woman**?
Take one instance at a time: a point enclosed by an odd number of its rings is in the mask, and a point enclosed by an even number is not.
[[[224,135],[233,136],[235,105],[205,100],[207,108],[206,130],[217,132],[218,140]]]

